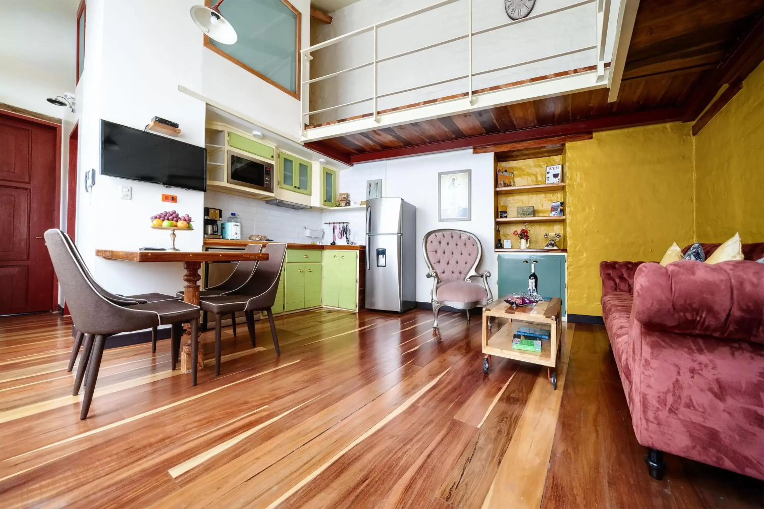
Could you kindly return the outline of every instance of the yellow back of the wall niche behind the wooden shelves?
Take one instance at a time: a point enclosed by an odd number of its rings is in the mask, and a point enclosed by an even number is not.
[[[508,163],[498,163],[497,169],[508,169],[515,174],[515,185],[534,185],[544,184],[546,182],[546,167],[555,164],[562,164],[562,156],[537,157],[536,159],[525,159],[522,161],[511,161]],[[565,174],[562,176],[565,182]],[[552,208],[552,201],[565,201],[565,193],[562,191],[552,192],[524,192],[519,194],[497,195],[498,205],[507,205],[507,216],[516,217],[517,207],[533,205],[537,216],[548,216]],[[502,239],[512,240],[512,247],[520,247],[520,239],[514,237],[512,232],[520,230],[522,223],[510,223],[500,225],[500,237]],[[563,223],[530,223],[529,247],[532,249],[541,248],[546,245],[545,233],[562,234],[562,239],[558,245],[565,246],[565,224]]]

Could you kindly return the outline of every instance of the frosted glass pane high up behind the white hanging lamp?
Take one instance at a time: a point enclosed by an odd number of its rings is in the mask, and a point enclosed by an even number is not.
[[[235,28],[238,40],[222,44],[209,39],[207,45],[299,97],[299,11],[286,0],[225,0],[220,12]]]

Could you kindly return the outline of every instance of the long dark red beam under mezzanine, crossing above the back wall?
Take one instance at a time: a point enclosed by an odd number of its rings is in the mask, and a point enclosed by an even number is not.
[[[667,108],[662,110],[640,111],[638,113],[613,115],[610,117],[592,118],[585,121],[567,122],[565,124],[549,125],[544,127],[531,127],[529,129],[512,130],[505,133],[481,134],[458,138],[457,140],[436,141],[422,143],[412,147],[403,147],[375,152],[359,153],[350,156],[352,164],[366,163],[378,159],[395,159],[397,157],[417,156],[425,153],[448,152],[462,150],[485,145],[500,145],[503,143],[518,143],[527,140],[539,140],[567,136],[569,134],[586,134],[596,130],[620,129],[623,127],[635,127],[638,125],[662,124],[681,120],[684,111],[681,108]],[[310,144],[306,143],[306,147]],[[312,147],[311,147],[312,148]],[[315,149],[314,149],[315,150]]]

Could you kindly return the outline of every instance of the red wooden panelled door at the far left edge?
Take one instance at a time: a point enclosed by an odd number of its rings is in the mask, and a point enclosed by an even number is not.
[[[0,314],[50,311],[57,130],[0,114]]]

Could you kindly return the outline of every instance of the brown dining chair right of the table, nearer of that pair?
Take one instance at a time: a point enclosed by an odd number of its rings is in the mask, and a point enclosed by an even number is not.
[[[220,321],[221,317],[228,313],[244,311],[247,318],[247,328],[254,346],[254,311],[265,311],[270,321],[270,335],[274,340],[276,355],[281,355],[279,339],[276,335],[273,308],[276,301],[276,293],[279,288],[281,269],[286,257],[285,243],[267,243],[263,253],[268,254],[268,259],[260,263],[254,269],[251,277],[236,293],[226,295],[208,295],[199,298],[202,310],[215,314],[215,374],[220,374]]]

